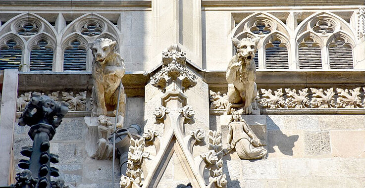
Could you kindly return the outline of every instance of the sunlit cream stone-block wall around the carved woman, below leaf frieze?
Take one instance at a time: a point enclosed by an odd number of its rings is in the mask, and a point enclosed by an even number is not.
[[[227,118],[210,116],[227,135]],[[360,188],[365,184],[364,115],[244,116],[254,129],[267,125],[268,158],[223,157],[228,187]],[[262,133],[256,132],[258,136]],[[260,136],[259,136],[260,137]],[[225,144],[223,144],[225,145]]]

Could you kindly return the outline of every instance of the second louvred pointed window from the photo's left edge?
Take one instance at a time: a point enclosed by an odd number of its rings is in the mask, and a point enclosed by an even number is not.
[[[30,52],[30,71],[52,71],[53,49],[44,39]]]

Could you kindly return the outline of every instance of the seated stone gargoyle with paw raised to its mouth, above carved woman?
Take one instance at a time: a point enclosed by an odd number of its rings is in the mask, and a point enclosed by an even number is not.
[[[257,109],[254,57],[260,38],[231,39],[234,46],[237,47],[237,53],[232,57],[226,71],[230,103],[227,107],[227,114],[231,114],[232,111],[242,106],[244,106],[243,110],[246,114],[251,114],[253,109]]]

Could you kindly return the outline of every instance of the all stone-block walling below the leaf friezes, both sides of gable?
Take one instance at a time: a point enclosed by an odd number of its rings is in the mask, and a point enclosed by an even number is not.
[[[365,184],[365,171],[361,168],[365,165],[364,115],[250,115],[243,118],[267,141],[269,154],[265,160],[241,160],[235,152],[224,156],[228,187],[358,188]],[[216,124],[216,129],[222,132],[223,146],[228,121],[227,116],[210,116],[211,128]],[[261,129],[265,125],[266,128]],[[23,158],[20,148],[32,144],[28,130],[28,127],[15,127],[15,161]],[[58,154],[60,161],[55,166],[60,176],[77,188],[109,187],[111,161],[90,158],[87,147],[93,141],[86,139],[87,132],[83,117],[63,120],[51,141],[51,152]],[[117,160],[116,187],[120,178],[118,163]],[[17,172],[19,170],[16,168]],[[185,176],[181,172],[180,161],[172,157],[161,179],[162,185],[183,181]]]

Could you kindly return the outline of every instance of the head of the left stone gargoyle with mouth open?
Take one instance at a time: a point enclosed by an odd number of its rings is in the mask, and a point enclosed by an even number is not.
[[[94,60],[101,65],[104,64],[105,58],[114,51],[116,42],[110,39],[97,39],[93,43],[90,43],[90,48],[93,51]]]

